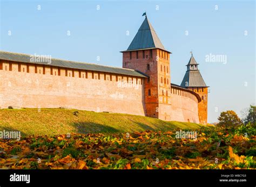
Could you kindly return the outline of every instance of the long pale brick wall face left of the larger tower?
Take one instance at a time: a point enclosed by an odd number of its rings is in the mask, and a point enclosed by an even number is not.
[[[0,60],[0,107],[144,115],[143,79]]]

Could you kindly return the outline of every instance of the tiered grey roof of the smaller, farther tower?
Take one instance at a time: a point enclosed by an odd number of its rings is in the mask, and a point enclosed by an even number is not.
[[[193,55],[190,58],[190,61],[188,62],[187,66],[190,65],[198,65],[197,61],[194,59]],[[191,70],[190,68],[188,68],[188,70],[186,71],[183,81],[180,84],[181,87],[208,87],[205,84],[205,81],[201,75],[201,73],[199,72],[198,69],[196,70]]]

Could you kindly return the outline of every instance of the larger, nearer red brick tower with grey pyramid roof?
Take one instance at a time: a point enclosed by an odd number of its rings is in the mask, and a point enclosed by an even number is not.
[[[130,46],[123,53],[123,68],[145,73],[144,103],[146,116],[170,120],[163,105],[171,103],[170,53],[161,44],[147,17]]]

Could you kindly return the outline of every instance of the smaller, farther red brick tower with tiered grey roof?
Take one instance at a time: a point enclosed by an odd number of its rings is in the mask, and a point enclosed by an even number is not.
[[[197,61],[194,59],[193,54],[188,62],[187,71],[184,75],[183,81],[180,86],[191,89],[200,95],[201,101],[198,103],[198,116],[202,124],[207,123],[207,99],[208,91],[205,81],[198,70]]]

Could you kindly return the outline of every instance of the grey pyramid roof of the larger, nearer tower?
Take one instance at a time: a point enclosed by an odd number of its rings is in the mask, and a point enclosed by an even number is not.
[[[154,31],[152,25],[146,17],[126,51],[154,48],[165,50],[164,45],[158,38],[156,31]]]

